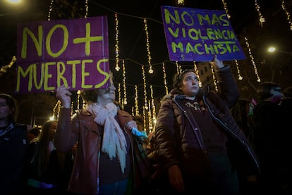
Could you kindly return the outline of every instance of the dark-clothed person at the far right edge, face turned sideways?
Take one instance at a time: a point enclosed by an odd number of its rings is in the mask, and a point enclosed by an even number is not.
[[[284,159],[291,150],[286,151],[284,146],[288,141],[286,139],[289,139],[288,145],[291,145],[291,136],[288,136],[291,131],[285,126],[286,118],[280,105],[284,98],[281,85],[274,82],[261,83],[257,88],[257,96],[261,101],[253,110],[253,143],[261,165],[260,185],[263,192],[285,194],[285,182],[282,180]]]

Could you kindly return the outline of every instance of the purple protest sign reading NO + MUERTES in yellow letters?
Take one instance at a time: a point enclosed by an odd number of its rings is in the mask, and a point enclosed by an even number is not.
[[[109,81],[107,16],[18,23],[16,93],[104,88]]]

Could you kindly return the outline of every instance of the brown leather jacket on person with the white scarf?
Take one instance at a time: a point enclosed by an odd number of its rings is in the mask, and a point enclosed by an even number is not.
[[[128,112],[119,110],[116,119],[121,129],[125,129],[126,122],[130,121],[132,116]],[[61,108],[55,136],[57,150],[67,152],[78,141],[78,151],[68,191],[81,194],[98,194],[99,151],[101,148],[99,128],[103,128],[103,126],[97,125],[89,112],[78,110],[71,119],[71,110]],[[132,144],[131,159],[133,160],[135,144],[133,145],[133,136],[130,132],[127,133]]]

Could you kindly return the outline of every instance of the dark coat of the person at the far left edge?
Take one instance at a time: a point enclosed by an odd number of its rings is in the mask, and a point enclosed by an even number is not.
[[[16,194],[26,182],[27,126],[11,123],[0,136],[0,194]]]

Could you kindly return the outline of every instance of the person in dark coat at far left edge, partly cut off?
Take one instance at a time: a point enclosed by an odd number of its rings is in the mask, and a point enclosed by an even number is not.
[[[25,187],[27,126],[16,123],[16,100],[0,93],[0,194],[18,194]]]

